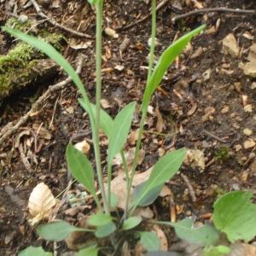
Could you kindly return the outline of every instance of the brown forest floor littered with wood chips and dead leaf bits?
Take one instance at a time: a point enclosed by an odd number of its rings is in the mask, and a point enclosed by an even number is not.
[[[49,24],[47,20],[39,22],[42,18],[33,6],[26,6],[28,2],[0,1],[0,25],[5,24],[10,14],[26,15],[38,21],[38,29],[63,33],[62,53],[73,67],[76,67],[79,55],[85,55],[80,76],[94,101],[94,10],[86,1],[38,1],[45,15],[91,37],[82,38]],[[112,28],[115,33],[107,30],[108,33],[103,35],[102,108],[112,116],[126,103],[142,100],[147,78],[150,17],[137,21],[150,12],[150,3],[145,2],[105,3],[104,27]],[[207,24],[207,29],[192,40],[183,55],[169,68],[152,98],[143,138],[145,155],[137,170],[148,170],[171,148],[200,150],[204,155],[204,170],[202,166],[183,165],[168,183],[172,194],[156,201],[150,210],[154,218],[170,220],[170,209],[174,206],[177,219],[193,215],[203,221],[211,217],[212,204],[218,195],[237,189],[256,192],[256,72],[254,69],[254,75],[246,73],[244,68],[250,52],[251,57],[256,58],[256,50],[253,54],[250,49],[256,42],[256,19],[253,15],[207,12],[173,22],[177,15],[196,9],[193,3],[186,5],[182,2],[169,1],[158,11],[156,57],[184,32],[203,23]],[[254,0],[205,0],[197,3],[202,3],[204,8],[255,9]],[[125,28],[133,22],[137,24]],[[229,34],[234,36],[235,42],[226,43],[224,38]],[[15,44],[6,33],[0,32],[0,54],[6,54]],[[0,109],[0,131],[9,122],[15,124],[19,121],[49,85],[66,78],[59,69],[53,79],[40,84],[35,82],[29,89],[6,99]],[[78,97],[73,84],[67,84],[63,90],[50,95],[42,108],[0,144],[1,255],[15,255],[29,245],[52,247],[51,243],[38,240],[28,223],[27,202],[38,183],[46,183],[55,196],[66,189],[70,179],[65,158],[67,143],[71,138],[75,143],[84,139],[90,143],[90,125],[79,106]],[[138,115],[135,115],[134,132],[125,146],[126,151],[134,148],[137,128]],[[102,139],[102,145],[104,143]],[[93,160],[92,149],[89,155]],[[118,168],[116,166],[116,172]],[[74,183],[69,193],[79,195],[80,191],[79,185]],[[89,202],[79,210],[70,211],[66,203],[57,218],[79,224],[91,207]],[[171,246],[177,237],[169,233],[167,237]],[[67,251],[64,242],[59,250],[61,255]]]

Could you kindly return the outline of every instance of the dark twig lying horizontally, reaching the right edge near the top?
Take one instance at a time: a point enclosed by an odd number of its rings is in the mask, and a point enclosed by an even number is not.
[[[241,15],[256,14],[256,11],[254,9],[229,9],[224,7],[196,9],[183,15],[177,15],[176,17],[172,18],[172,22],[176,22],[177,20],[181,20],[192,15],[199,15],[199,14],[205,14],[205,13],[211,13],[211,12],[222,12],[222,13],[225,12],[225,13],[235,13],[235,14],[241,14]]]

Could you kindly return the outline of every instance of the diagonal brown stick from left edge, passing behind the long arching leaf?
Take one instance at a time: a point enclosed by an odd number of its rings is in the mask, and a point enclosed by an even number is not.
[[[83,67],[83,62],[84,62],[84,55],[79,56],[79,61],[78,61],[78,67],[76,72],[80,73]],[[61,90],[63,89],[68,83],[70,83],[72,79],[67,78],[64,81],[61,81],[60,83],[54,84],[49,86],[48,90],[44,92],[44,95],[40,96],[36,102],[33,103],[32,108],[20,118],[18,123],[16,125],[5,125],[3,127],[3,133],[0,133],[0,145],[4,142],[4,140],[10,136],[12,136],[15,131],[18,131],[21,125],[24,125],[26,121],[34,115],[35,112],[38,111],[38,109],[43,105],[43,102],[51,96],[56,90]],[[10,128],[9,128],[10,127]]]

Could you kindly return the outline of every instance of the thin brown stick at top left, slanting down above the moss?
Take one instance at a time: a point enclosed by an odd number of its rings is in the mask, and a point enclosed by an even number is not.
[[[48,21],[51,25],[56,26],[58,28],[61,28],[62,30],[69,32],[77,37],[80,38],[88,38],[88,39],[92,39],[93,37],[88,35],[88,34],[84,34],[82,32],[78,32],[75,31],[67,26],[62,26],[60,23],[56,22],[54,18],[49,18],[47,15],[44,14],[44,12],[42,11],[42,9],[40,8],[40,6],[38,5],[36,0],[30,0],[30,2],[32,3],[32,5],[34,6],[34,8],[36,9],[38,15],[44,19],[47,19],[46,21]]]

